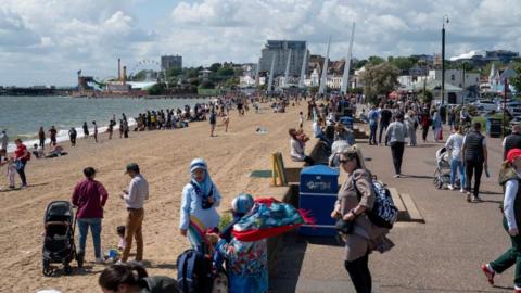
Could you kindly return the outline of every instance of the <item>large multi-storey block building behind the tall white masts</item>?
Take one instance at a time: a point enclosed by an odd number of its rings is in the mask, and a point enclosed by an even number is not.
[[[291,60],[289,74],[290,76],[300,76],[302,62],[304,60],[304,52],[307,50],[306,41],[268,40],[265,48],[262,50],[262,56],[259,61],[260,72],[270,71],[271,61],[275,56],[274,75],[283,75],[285,73],[290,50]],[[305,68],[305,74],[307,74],[307,67]]]

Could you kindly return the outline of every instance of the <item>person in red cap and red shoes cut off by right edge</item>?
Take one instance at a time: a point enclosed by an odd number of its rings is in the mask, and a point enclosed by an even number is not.
[[[494,276],[516,265],[513,290],[521,293],[521,149],[508,151],[503,169],[499,173],[499,183],[504,187],[503,227],[508,233],[512,246],[495,260],[483,264],[481,269],[488,283],[494,284]]]

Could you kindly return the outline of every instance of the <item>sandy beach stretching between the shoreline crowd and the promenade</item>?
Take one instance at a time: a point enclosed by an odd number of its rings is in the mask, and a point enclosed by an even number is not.
[[[228,209],[239,192],[256,195],[258,184],[268,184],[268,180],[251,181],[249,176],[253,169],[269,169],[271,153],[280,151],[284,161],[289,161],[288,128],[296,127],[298,110],[303,110],[305,103],[300,107],[290,106],[283,114],[272,113],[267,104],[262,106],[260,114],[251,110],[245,117],[239,117],[233,111],[228,133],[218,126],[214,138],[209,137],[208,123],[202,122],[185,129],[130,132],[129,139],[107,140],[103,135],[101,143],[80,139],[77,148],[66,145],[67,156],[33,158],[26,168],[30,187],[0,192],[0,271],[3,272],[0,292],[36,292],[49,288],[62,292],[100,292],[98,276],[104,266],[93,264],[90,233],[82,270],[76,269],[73,262],[72,276],[42,276],[42,217],[49,202],[71,199],[74,186],[82,179],[82,168],[92,166],[98,170],[97,179],[110,194],[104,212],[102,247],[106,251],[116,246],[116,226],[124,225],[126,217],[119,193],[130,180],[124,175],[128,162],[138,163],[150,183],[143,222],[144,259],[149,273],[175,277],[176,258],[189,247],[188,240],[180,237],[177,227],[181,190],[190,178],[190,161],[194,157],[207,161],[212,178],[224,196],[220,211]],[[258,126],[265,127],[267,133],[255,133]],[[308,122],[305,129],[310,135]],[[310,145],[306,151],[309,149]],[[0,179],[1,186],[5,187],[4,168],[0,171]]]

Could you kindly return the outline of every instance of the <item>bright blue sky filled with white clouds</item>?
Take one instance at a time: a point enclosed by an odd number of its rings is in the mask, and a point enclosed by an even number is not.
[[[520,0],[0,0],[0,86],[75,86],[141,60],[180,54],[183,66],[257,62],[267,39],[306,40],[313,54],[521,51]],[[153,68],[154,65],[150,65]]]

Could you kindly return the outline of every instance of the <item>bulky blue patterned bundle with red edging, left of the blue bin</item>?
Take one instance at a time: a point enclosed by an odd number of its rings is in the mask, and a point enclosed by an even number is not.
[[[233,225],[231,233],[239,241],[253,242],[283,234],[303,224],[315,224],[309,212],[272,198],[260,198],[255,200],[252,211]]]

